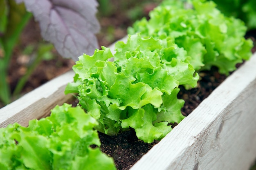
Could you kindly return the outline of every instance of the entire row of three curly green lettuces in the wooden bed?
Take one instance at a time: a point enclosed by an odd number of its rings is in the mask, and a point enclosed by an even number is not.
[[[245,32],[242,21],[225,17],[211,1],[165,0],[149,20],[128,29],[115,53],[102,47],[79,57],[65,89],[78,94],[78,106],[56,106],[28,127],[0,129],[0,169],[116,169],[99,149],[97,130],[117,135],[133,128],[144,142],[161,140],[184,118],[179,86],[196,87],[198,72],[212,66],[228,75],[249,59]]]

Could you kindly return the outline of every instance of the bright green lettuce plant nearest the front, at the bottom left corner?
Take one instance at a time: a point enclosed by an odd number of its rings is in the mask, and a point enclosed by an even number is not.
[[[28,127],[0,128],[1,170],[115,170],[103,154],[97,121],[79,106],[56,106],[49,117],[29,121]]]

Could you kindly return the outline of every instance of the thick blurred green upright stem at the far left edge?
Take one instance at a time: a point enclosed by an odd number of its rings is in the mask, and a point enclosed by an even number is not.
[[[12,51],[21,31],[32,16],[25,10],[24,4],[16,4],[15,1],[10,0],[7,6],[9,7],[8,24],[0,37],[0,46],[4,51],[4,56],[0,58],[0,101],[5,105],[11,102],[11,89],[7,82],[7,75]]]

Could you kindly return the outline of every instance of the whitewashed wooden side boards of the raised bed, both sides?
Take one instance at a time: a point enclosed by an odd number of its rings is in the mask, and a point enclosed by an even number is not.
[[[131,170],[249,169],[256,159],[256,54],[214,90]],[[0,109],[0,127],[49,115],[64,95],[69,71]]]

